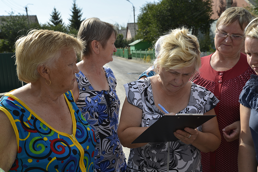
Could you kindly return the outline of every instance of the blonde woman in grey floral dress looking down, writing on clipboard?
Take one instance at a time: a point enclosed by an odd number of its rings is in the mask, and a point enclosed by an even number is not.
[[[157,75],[124,84],[126,100],[118,136],[123,146],[131,148],[128,171],[200,172],[200,151],[214,151],[219,147],[221,137],[216,118],[196,129],[186,127],[184,131],[171,133],[178,141],[131,144],[148,126],[164,115],[215,114],[213,108],[218,99],[204,87],[189,81],[200,64],[198,39],[185,28],[174,29],[164,36],[161,44],[155,64]],[[165,114],[158,104],[171,113]]]

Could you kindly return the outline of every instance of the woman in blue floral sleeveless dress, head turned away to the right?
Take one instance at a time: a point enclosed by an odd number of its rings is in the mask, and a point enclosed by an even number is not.
[[[116,29],[98,18],[81,23],[78,37],[87,45],[82,52],[77,82],[72,90],[76,104],[96,134],[95,172],[124,172],[126,159],[117,136],[120,100],[116,94],[116,78],[103,67],[113,60]]]

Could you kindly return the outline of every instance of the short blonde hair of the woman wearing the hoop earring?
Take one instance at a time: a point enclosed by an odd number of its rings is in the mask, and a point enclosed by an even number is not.
[[[74,49],[81,52],[83,41],[58,31],[31,30],[28,35],[15,42],[15,57],[19,80],[26,83],[36,82],[40,77],[38,66],[54,68],[61,51]]]

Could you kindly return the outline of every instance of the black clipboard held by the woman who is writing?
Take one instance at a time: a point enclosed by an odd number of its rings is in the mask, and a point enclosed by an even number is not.
[[[147,128],[133,143],[177,141],[173,132],[185,127],[197,128],[216,115],[164,115]]]

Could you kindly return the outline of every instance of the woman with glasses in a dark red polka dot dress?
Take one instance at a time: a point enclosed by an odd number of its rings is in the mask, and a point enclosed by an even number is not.
[[[255,72],[240,52],[245,46],[243,31],[251,14],[242,7],[224,11],[216,23],[216,52],[202,57],[202,66],[193,82],[210,90],[220,102],[214,108],[221,134],[220,147],[202,153],[204,172],[238,172],[240,112],[239,95]]]

